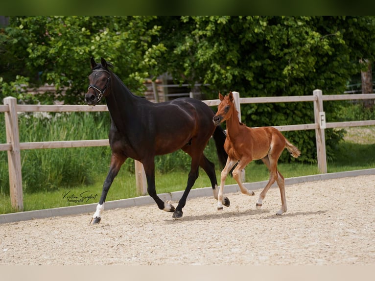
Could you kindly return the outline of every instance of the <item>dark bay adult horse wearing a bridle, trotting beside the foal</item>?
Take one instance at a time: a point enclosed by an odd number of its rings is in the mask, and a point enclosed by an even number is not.
[[[212,123],[214,112],[204,102],[193,98],[178,98],[173,101],[153,103],[132,94],[123,82],[111,71],[112,65],[101,58],[96,64],[91,58],[92,73],[85,99],[88,105],[96,105],[102,97],[107,101],[111,116],[109,143],[112,150],[111,164],[103,184],[102,194],[92,223],[100,222],[104,202],[111,184],[121,165],[127,158],[140,161],[146,173],[147,192],[159,209],[173,212],[172,218],[182,218],[186,199],[195,180],[199,166],[210,178],[213,196],[217,199],[218,188],[214,164],[203,154],[209,139],[213,136],[220,162],[225,164],[226,138],[221,126]],[[176,209],[158,197],[155,189],[156,155],[182,149],[191,157],[188,183]],[[229,206],[228,198],[223,200]]]

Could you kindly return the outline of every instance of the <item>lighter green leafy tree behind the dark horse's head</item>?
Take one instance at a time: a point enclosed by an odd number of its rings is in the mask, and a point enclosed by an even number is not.
[[[50,96],[49,102],[59,99],[81,103],[88,86],[91,56],[114,62],[117,75],[136,94],[142,94],[144,79],[153,74],[156,58],[165,50],[161,43],[151,44],[151,38],[159,31],[158,26],[149,28],[152,19],[11,17],[0,37],[6,50],[1,52],[2,96],[12,94],[14,87],[9,85],[24,76],[30,86],[48,83],[56,87],[57,95]],[[42,98],[46,102],[46,96]]]

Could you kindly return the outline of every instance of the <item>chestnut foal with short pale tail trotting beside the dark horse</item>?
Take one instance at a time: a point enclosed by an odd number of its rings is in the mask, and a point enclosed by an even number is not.
[[[220,189],[217,200],[217,210],[223,210],[223,192],[225,179],[233,166],[238,165],[233,170],[233,177],[238,183],[241,192],[247,195],[255,195],[254,191],[249,191],[243,186],[240,171],[253,160],[261,159],[270,171],[270,178],[267,185],[259,195],[257,208],[262,206],[262,202],[268,189],[276,181],[281,193],[281,209],[276,213],[281,215],[286,212],[285,181],[279,172],[277,165],[281,152],[286,149],[297,158],[301,152],[291,144],[285,137],[273,127],[249,128],[239,122],[238,113],[233,103],[233,94],[230,92],[225,97],[219,93],[220,104],[216,115],[213,117],[215,125],[223,121],[227,122],[227,139],[224,149],[228,153],[227,164],[221,172]]]

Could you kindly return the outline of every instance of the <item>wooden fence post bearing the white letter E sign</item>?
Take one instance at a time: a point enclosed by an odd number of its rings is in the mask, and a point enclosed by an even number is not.
[[[313,94],[317,96],[317,100],[314,100],[314,119],[315,123],[319,124],[319,128],[315,129],[318,169],[321,173],[327,173],[326,137],[324,132],[326,129],[326,114],[323,110],[322,90],[314,90]]]

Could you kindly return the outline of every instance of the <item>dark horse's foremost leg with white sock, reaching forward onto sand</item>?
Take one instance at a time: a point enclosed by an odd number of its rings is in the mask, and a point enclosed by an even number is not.
[[[94,212],[93,218],[90,221],[91,224],[97,224],[100,222],[101,213],[104,211],[104,202],[107,197],[109,188],[111,187],[113,180],[117,176],[118,171],[120,170],[121,165],[124,163],[126,158],[127,157],[118,156],[114,153],[112,154],[109,172],[103,184],[99,204],[96,206],[96,211]]]

